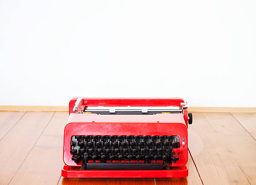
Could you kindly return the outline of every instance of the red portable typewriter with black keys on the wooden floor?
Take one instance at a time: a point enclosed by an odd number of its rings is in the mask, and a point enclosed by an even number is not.
[[[187,177],[182,98],[74,98],[64,129],[63,177]]]

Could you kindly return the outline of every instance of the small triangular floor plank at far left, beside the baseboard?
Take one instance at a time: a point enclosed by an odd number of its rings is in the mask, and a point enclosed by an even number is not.
[[[0,140],[26,112],[0,112]]]

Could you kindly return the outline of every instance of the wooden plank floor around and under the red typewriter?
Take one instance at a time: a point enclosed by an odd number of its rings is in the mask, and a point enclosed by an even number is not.
[[[256,113],[193,113],[186,178],[63,178],[67,112],[0,112],[0,184],[256,185]]]

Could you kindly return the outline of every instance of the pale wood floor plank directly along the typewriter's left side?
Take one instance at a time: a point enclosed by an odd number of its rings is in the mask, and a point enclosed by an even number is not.
[[[10,184],[57,184],[63,167],[63,132],[69,113],[56,112]],[[49,170],[50,169],[50,170]]]

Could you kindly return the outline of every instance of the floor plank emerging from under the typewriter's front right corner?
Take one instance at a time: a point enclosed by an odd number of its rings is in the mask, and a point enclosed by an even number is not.
[[[199,185],[202,184],[201,179],[198,175],[195,164],[192,160],[191,155],[187,161],[187,167],[189,169],[189,175],[184,178],[155,178],[156,185]]]

